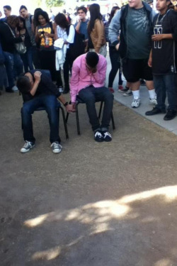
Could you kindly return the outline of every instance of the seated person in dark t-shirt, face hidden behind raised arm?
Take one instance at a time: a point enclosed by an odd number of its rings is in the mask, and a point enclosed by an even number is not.
[[[45,107],[49,118],[52,152],[60,153],[62,146],[60,145],[59,138],[57,98],[66,107],[68,112],[72,111],[72,105],[68,104],[60,94],[55,84],[53,84],[50,74],[46,73],[46,70],[31,70],[25,73],[22,77],[18,78],[17,87],[24,101],[21,118],[25,145],[21,148],[21,153],[27,153],[35,146],[31,114],[41,106]]]

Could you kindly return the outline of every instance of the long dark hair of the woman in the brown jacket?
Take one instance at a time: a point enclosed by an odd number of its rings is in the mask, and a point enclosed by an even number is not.
[[[89,7],[89,11],[91,18],[88,25],[88,31],[89,33],[91,33],[94,28],[96,19],[102,21],[102,15],[100,13],[100,6],[98,4],[91,4],[91,6]]]

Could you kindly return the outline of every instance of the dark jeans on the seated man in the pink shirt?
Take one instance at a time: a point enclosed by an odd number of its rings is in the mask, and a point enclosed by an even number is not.
[[[79,97],[82,101],[86,103],[86,111],[89,115],[89,120],[92,126],[93,131],[96,129],[108,130],[110,123],[110,116],[113,110],[113,94],[106,87],[87,87],[81,89],[79,92]],[[96,101],[104,101],[103,117],[101,121],[101,126],[99,119],[96,113]]]

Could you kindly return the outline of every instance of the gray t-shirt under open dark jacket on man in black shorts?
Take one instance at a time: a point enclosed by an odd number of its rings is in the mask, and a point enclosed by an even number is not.
[[[128,8],[126,17],[127,57],[130,59],[145,59],[151,49],[150,28],[147,12],[142,9]]]

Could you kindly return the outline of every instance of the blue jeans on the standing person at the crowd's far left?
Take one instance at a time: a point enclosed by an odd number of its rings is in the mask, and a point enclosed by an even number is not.
[[[6,72],[8,77],[8,87],[14,86],[14,77],[18,77],[23,72],[23,62],[17,52],[4,52]]]

